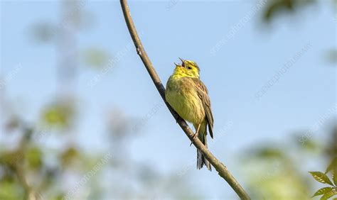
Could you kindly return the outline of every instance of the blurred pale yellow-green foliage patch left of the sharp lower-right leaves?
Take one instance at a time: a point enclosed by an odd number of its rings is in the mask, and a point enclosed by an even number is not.
[[[252,199],[308,199],[306,179],[284,148],[265,146],[245,155],[242,165]]]

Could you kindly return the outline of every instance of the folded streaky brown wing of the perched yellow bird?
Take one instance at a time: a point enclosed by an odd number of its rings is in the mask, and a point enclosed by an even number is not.
[[[210,109],[210,96],[208,96],[208,90],[205,84],[200,81],[200,79],[193,78],[193,82],[196,85],[196,89],[198,91],[198,96],[203,102],[203,109],[205,109],[206,117],[208,120],[208,130],[210,131],[210,137],[213,138],[213,113],[212,109]]]

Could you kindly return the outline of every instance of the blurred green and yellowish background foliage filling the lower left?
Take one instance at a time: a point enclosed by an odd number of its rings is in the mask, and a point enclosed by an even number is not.
[[[120,127],[131,127],[133,124],[122,111],[112,110],[109,113],[109,116],[114,116],[110,119],[114,122],[108,121],[107,138],[112,144],[109,149],[114,153],[107,157],[106,152],[85,152],[77,145],[77,140],[73,140],[73,131],[66,131],[72,129],[77,119],[77,115],[69,111],[73,110],[68,106],[73,101],[62,102],[42,109],[41,116],[53,115],[53,120],[46,117],[48,120],[45,119],[45,123],[52,128],[39,137],[36,137],[40,134],[37,126],[39,123],[27,123],[18,117],[7,118],[6,124],[11,124],[8,126],[11,128],[6,128],[6,134],[16,132],[20,137],[15,145],[0,145],[0,199],[32,199],[32,196],[33,199],[63,199],[66,196],[70,199],[105,199],[107,195],[122,199],[149,199],[154,194],[181,199],[193,196],[183,177],[162,174],[151,165],[146,165],[146,162],[134,161],[129,156],[124,142],[126,138],[128,142],[132,140],[127,133],[130,128]],[[118,120],[117,116],[120,116]],[[58,131],[51,131],[55,127]],[[64,136],[58,136],[58,140],[68,145],[58,149],[45,145],[48,140],[44,137],[60,131],[64,132]],[[107,174],[112,174],[108,183]],[[74,177],[77,182],[67,187],[65,183]],[[79,182],[83,184],[78,184]],[[107,184],[109,189],[103,184]],[[134,185],[139,185],[142,189],[139,190]]]

